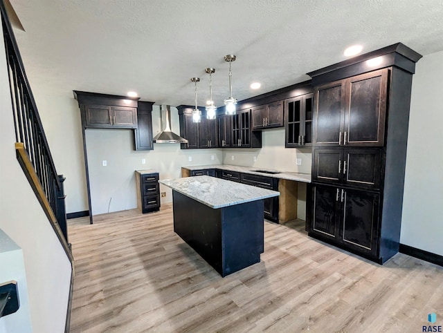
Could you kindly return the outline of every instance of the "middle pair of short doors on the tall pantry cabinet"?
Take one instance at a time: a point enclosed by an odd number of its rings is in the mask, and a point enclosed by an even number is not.
[[[313,182],[379,189],[381,149],[314,149]]]

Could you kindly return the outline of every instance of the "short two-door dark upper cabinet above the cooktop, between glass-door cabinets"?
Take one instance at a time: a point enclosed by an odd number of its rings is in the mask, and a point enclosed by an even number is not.
[[[283,126],[284,102],[278,101],[251,108],[253,130]]]

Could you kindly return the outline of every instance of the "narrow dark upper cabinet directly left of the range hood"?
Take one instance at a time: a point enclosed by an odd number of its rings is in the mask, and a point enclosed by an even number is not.
[[[152,141],[152,105],[153,102],[138,101],[137,123],[134,130],[134,142],[136,151],[151,151],[154,149]]]

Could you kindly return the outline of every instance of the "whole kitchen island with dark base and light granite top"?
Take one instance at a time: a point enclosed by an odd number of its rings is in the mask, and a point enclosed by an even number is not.
[[[174,231],[221,276],[260,262],[263,200],[280,193],[206,175],[160,182],[172,189]]]

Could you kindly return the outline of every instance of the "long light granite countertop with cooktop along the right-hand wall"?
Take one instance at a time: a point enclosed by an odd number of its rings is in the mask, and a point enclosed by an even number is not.
[[[294,180],[296,182],[311,182],[311,174],[310,173],[297,173],[297,172],[289,172],[289,171],[280,171],[273,169],[263,169],[257,167],[241,167],[239,165],[230,165],[230,164],[213,164],[213,165],[196,165],[191,167],[182,167],[188,170],[200,170],[200,169],[220,169],[226,171],[237,171],[242,173],[251,173],[252,175],[265,175],[266,177],[272,178],[280,178],[286,180]],[[255,172],[255,170],[264,170],[264,171],[275,171],[278,173],[260,173]]]

